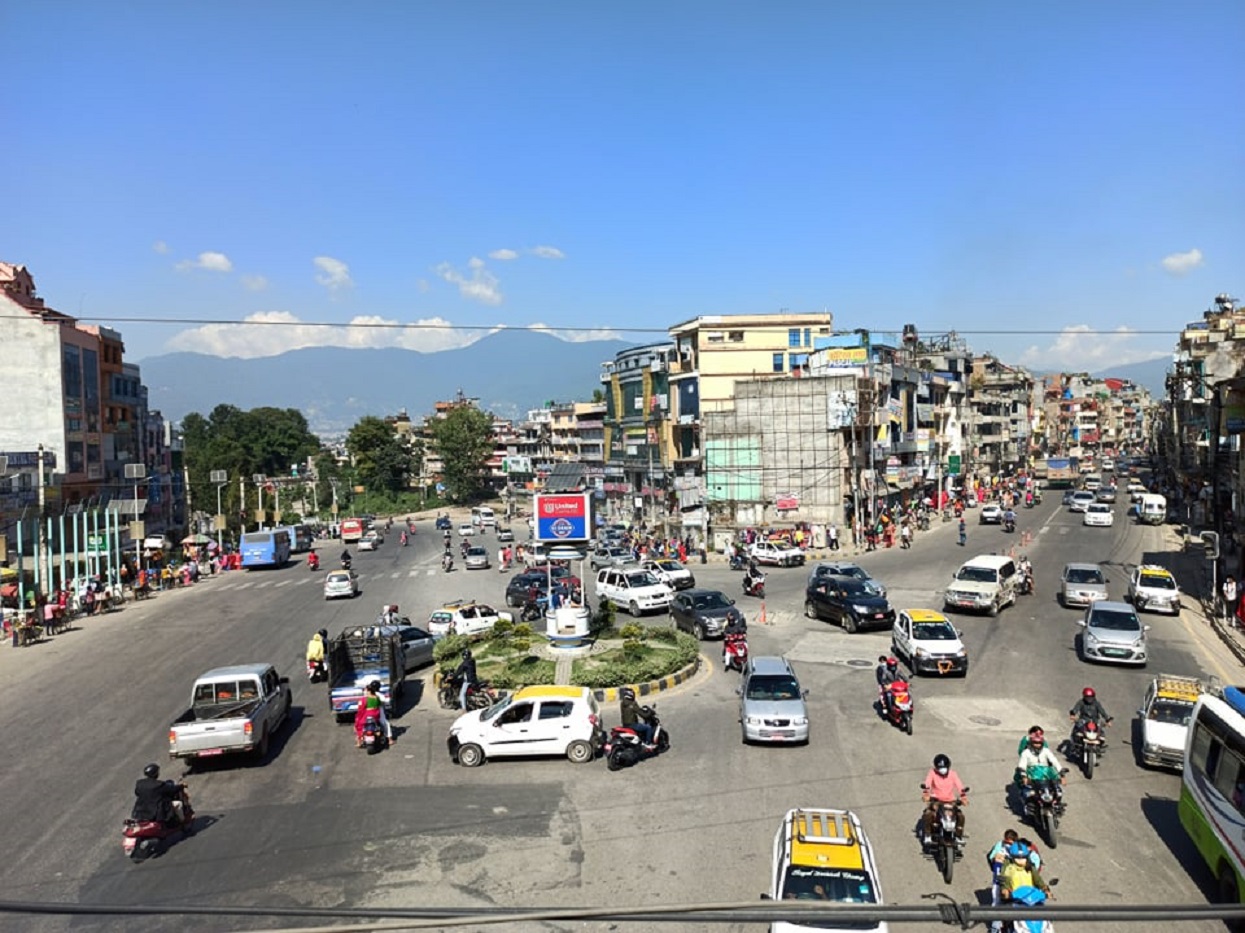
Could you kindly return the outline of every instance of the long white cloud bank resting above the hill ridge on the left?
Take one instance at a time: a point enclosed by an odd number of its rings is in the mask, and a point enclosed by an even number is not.
[[[289,311],[259,311],[238,324],[205,324],[174,334],[167,350],[187,350],[212,356],[255,359],[276,356],[306,346],[369,349],[397,346],[436,353],[467,346],[484,336],[481,330],[461,330],[443,318],[425,318],[400,324],[388,318],[359,315],[349,324],[319,325],[300,320]]]

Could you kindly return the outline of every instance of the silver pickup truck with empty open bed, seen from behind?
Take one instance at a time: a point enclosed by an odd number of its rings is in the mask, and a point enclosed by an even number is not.
[[[205,759],[268,755],[273,734],[290,716],[290,681],[271,664],[237,664],[199,676],[190,708],[168,727],[168,755]]]

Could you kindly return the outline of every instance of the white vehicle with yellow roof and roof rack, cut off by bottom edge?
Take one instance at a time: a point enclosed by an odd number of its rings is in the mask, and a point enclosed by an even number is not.
[[[788,810],[774,836],[773,874],[766,897],[774,902],[817,901],[827,904],[884,903],[878,866],[864,828],[850,810]],[[791,931],[874,931],[885,921],[818,919],[803,924],[778,922],[771,933]]]

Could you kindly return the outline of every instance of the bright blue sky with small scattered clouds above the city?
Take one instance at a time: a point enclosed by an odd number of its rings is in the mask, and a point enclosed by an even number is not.
[[[1245,291],[1238,0],[2,21],[0,260],[86,319],[289,321],[118,321],[131,359],[788,309],[1096,370]],[[352,320],[451,326],[299,326]]]

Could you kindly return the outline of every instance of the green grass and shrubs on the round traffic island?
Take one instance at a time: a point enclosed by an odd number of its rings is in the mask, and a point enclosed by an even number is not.
[[[614,607],[603,604],[593,617],[594,650],[571,664],[573,685],[601,689],[657,680],[686,668],[700,654],[700,643],[685,632],[635,622],[616,628],[614,623]],[[554,683],[555,661],[548,643],[528,623],[499,622],[483,635],[446,635],[433,650],[438,674],[453,671],[468,646],[477,674],[494,688],[518,690]]]

